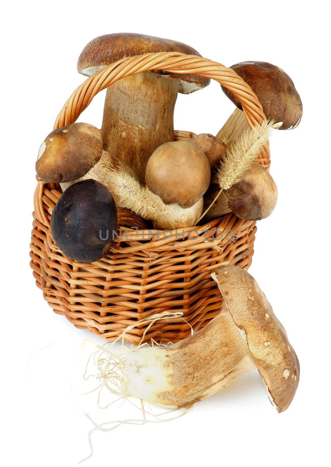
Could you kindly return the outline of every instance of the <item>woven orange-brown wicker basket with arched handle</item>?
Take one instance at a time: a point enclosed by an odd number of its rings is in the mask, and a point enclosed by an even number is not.
[[[159,69],[215,79],[241,101],[251,128],[266,118],[256,95],[234,71],[202,57],[151,53],[124,58],[86,79],[65,103],[54,128],[77,120],[94,95],[118,79]],[[175,139],[192,136],[189,132],[175,134]],[[266,145],[259,156],[262,165],[269,165],[269,154]],[[144,340],[186,338],[190,326],[201,328],[223,309],[223,297],[211,271],[220,264],[244,269],[251,265],[254,221],[238,219],[230,212],[207,225],[180,229],[183,238],[176,238],[173,231],[171,236],[167,232],[163,238],[161,232],[159,239],[148,240],[151,232],[144,219],[123,209],[119,210],[122,240],[115,241],[110,253],[91,264],[72,261],[54,243],[50,229],[50,214],[61,193],[58,185],[38,179],[30,252],[36,285],[55,313],[109,341],[129,325],[162,311],[181,311],[182,317],[158,320]],[[131,229],[132,225],[138,230]],[[146,324],[138,324],[125,339],[137,344],[145,329]]]

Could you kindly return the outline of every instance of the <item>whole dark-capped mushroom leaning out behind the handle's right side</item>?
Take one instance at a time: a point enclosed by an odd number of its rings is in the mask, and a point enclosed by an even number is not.
[[[240,62],[230,66],[237,75],[251,86],[262,105],[266,117],[276,122],[275,128],[287,130],[299,125],[302,102],[292,79],[285,71],[267,62]],[[227,145],[248,128],[239,100],[222,86],[226,96],[237,106],[216,135]]]

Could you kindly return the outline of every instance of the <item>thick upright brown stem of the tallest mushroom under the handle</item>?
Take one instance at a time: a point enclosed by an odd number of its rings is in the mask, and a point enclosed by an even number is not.
[[[174,140],[178,79],[142,72],[108,87],[102,120],[103,148],[144,179],[148,158]]]

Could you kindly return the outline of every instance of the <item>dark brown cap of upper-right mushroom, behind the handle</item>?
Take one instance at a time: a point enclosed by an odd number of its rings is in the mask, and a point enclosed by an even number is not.
[[[240,62],[230,66],[251,86],[257,95],[267,118],[276,123],[283,122],[279,128],[287,130],[296,127],[302,117],[302,102],[292,79],[281,68],[267,62]],[[242,110],[234,94],[222,86],[223,92]]]

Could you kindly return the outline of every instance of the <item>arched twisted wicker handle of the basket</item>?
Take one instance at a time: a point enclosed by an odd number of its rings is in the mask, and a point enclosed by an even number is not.
[[[91,103],[94,96],[115,83],[115,81],[142,71],[160,69],[169,73],[194,73],[205,78],[214,79],[239,99],[248,126],[251,129],[266,120],[266,115],[263,113],[256,94],[235,71],[217,62],[212,62],[208,58],[196,55],[186,55],[180,52],[158,52],[122,58],[87,78],[66,101],[63,109],[58,114],[54,129],[75,122]],[[270,151],[268,143],[262,149],[259,159],[262,165],[269,165]]]

